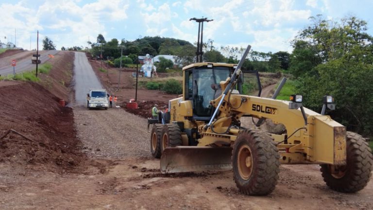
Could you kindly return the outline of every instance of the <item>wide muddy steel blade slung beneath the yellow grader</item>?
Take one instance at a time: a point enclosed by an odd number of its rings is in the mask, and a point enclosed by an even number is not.
[[[230,170],[231,156],[231,147],[169,147],[162,152],[161,172],[167,174]]]

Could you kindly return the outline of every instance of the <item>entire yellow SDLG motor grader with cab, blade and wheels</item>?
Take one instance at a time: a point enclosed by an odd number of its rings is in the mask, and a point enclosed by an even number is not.
[[[243,95],[240,68],[249,50],[250,45],[237,66],[196,63],[183,68],[183,95],[170,100],[169,113],[160,116],[158,122],[166,123],[153,124],[151,152],[161,158],[161,172],[233,169],[241,192],[265,195],[277,184],[280,164],[320,164],[331,189],[363,189],[373,165],[366,140],[330,116],[303,107],[300,95],[291,101]],[[325,99],[325,104],[332,102]],[[286,130],[274,134],[245,128],[242,117],[271,119]]]

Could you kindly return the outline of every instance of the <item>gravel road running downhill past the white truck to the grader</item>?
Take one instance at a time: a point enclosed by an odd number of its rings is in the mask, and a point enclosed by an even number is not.
[[[85,108],[86,93],[90,88],[102,88],[102,85],[85,53],[75,53],[74,66],[74,121],[84,152],[103,159],[151,157],[147,120],[119,108]]]

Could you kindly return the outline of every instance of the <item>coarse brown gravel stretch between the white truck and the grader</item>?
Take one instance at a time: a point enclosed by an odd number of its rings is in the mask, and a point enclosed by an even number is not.
[[[151,157],[147,120],[121,108],[74,107],[75,128],[83,151],[93,158]]]

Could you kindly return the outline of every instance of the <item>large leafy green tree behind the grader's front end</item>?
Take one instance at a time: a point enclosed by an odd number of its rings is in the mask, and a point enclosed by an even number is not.
[[[322,96],[333,95],[337,109],[328,114],[348,130],[373,135],[373,37],[367,23],[356,17],[311,20],[295,38],[290,59],[305,106],[320,111]]]

